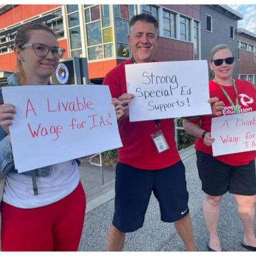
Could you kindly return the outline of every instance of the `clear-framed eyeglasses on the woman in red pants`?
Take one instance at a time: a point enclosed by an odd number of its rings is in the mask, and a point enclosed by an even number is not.
[[[44,45],[43,43],[25,43],[24,45],[20,45],[21,48],[33,47],[35,54],[39,57],[45,57],[49,51],[53,53],[53,56],[56,59],[61,59],[63,54],[65,53],[65,49],[57,46],[50,47],[48,45]]]

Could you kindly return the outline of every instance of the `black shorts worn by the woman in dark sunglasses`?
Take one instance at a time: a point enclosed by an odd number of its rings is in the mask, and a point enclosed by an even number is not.
[[[227,165],[211,155],[196,151],[197,169],[202,190],[207,195],[223,195],[227,191],[235,195],[255,195],[255,161],[248,165]]]

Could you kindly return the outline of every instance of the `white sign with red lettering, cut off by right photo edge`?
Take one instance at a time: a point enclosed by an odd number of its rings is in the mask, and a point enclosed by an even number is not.
[[[213,156],[256,150],[256,111],[211,120]]]

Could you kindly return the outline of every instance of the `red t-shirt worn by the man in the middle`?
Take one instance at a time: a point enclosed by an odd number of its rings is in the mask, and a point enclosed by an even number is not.
[[[132,64],[131,60],[124,61],[107,73],[103,85],[109,85],[112,97],[119,98],[127,93],[125,80],[125,65]],[[139,64],[133,64],[139,65]],[[118,149],[118,161],[139,169],[163,169],[180,161],[174,139],[173,119],[161,119],[160,129],[165,135],[169,149],[158,153],[151,138],[157,131],[155,121],[130,122],[125,117],[119,122],[119,133],[123,147]]]

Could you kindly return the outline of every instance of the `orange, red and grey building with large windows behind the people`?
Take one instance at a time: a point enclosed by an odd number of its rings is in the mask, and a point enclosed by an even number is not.
[[[15,71],[15,31],[37,21],[56,31],[65,59],[86,57],[90,81],[101,83],[131,57],[128,25],[137,13],[151,13],[159,21],[155,58],[161,61],[207,59],[218,43],[237,51],[242,15],[226,5],[0,5],[0,70]]]

